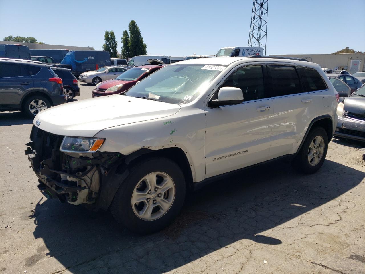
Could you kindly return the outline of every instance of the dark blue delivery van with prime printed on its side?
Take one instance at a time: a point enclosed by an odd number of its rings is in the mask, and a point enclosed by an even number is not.
[[[106,50],[70,50],[60,64],[72,65],[75,76],[110,66],[110,54]]]

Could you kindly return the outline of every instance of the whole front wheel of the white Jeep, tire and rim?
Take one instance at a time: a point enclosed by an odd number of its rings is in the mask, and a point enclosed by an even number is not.
[[[131,168],[115,194],[111,212],[132,232],[157,232],[178,215],[185,192],[184,174],[176,163],[149,159]]]

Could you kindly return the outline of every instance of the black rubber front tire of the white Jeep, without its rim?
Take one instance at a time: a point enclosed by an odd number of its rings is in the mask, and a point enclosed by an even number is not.
[[[175,186],[175,196],[170,208],[156,220],[142,220],[132,209],[132,193],[138,182],[152,172],[164,172],[168,174]],[[141,235],[160,231],[168,226],[179,214],[183,206],[186,192],[184,174],[173,161],[158,157],[151,158],[130,169],[130,175],[119,187],[111,205],[111,213],[115,220],[124,225],[131,232]]]

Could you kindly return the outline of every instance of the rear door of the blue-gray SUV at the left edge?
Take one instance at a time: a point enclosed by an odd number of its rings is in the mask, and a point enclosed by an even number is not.
[[[34,88],[26,65],[0,63],[0,104],[18,106],[22,96]]]

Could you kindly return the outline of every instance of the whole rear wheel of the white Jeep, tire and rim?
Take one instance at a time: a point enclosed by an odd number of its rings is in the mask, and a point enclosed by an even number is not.
[[[311,174],[319,170],[327,155],[328,137],[323,128],[312,129],[293,161],[295,168]]]

